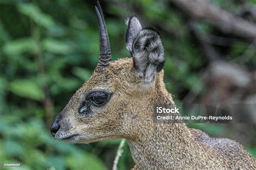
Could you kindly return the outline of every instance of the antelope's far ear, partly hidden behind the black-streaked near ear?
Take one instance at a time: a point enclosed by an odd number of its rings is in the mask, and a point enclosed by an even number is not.
[[[139,19],[135,16],[130,17],[126,20],[127,31],[125,34],[126,48],[132,52],[132,45],[134,39],[138,36],[139,32],[142,30],[142,25],[139,22]]]

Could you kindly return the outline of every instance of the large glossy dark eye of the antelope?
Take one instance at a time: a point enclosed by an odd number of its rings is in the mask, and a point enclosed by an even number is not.
[[[109,100],[110,94],[102,91],[96,91],[92,92],[89,95],[89,100],[91,100],[91,103],[95,104],[96,106],[104,105],[107,100]]]

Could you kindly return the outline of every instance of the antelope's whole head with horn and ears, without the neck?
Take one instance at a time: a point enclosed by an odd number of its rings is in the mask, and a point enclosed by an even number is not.
[[[72,96],[51,126],[56,139],[89,143],[136,138],[163,83],[164,47],[158,33],[127,19],[130,58],[111,60],[107,29],[99,3],[99,62],[89,80]]]

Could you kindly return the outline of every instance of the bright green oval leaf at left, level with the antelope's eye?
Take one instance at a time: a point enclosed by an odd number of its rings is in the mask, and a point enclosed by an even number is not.
[[[41,100],[44,97],[43,91],[32,80],[15,80],[9,84],[12,93],[24,98]]]

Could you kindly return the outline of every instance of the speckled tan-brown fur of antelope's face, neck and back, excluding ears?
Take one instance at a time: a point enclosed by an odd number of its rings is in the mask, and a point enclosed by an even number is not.
[[[78,133],[83,139],[69,142],[125,138],[140,169],[255,168],[252,156],[237,142],[210,138],[185,124],[154,124],[153,104],[174,104],[165,89],[164,72],[145,87],[132,65],[131,58],[113,61],[76,92],[60,121],[69,119],[72,128],[63,128],[61,134]],[[96,88],[112,92],[112,99],[104,108],[93,108],[93,117],[83,118],[77,108],[86,92]]]

